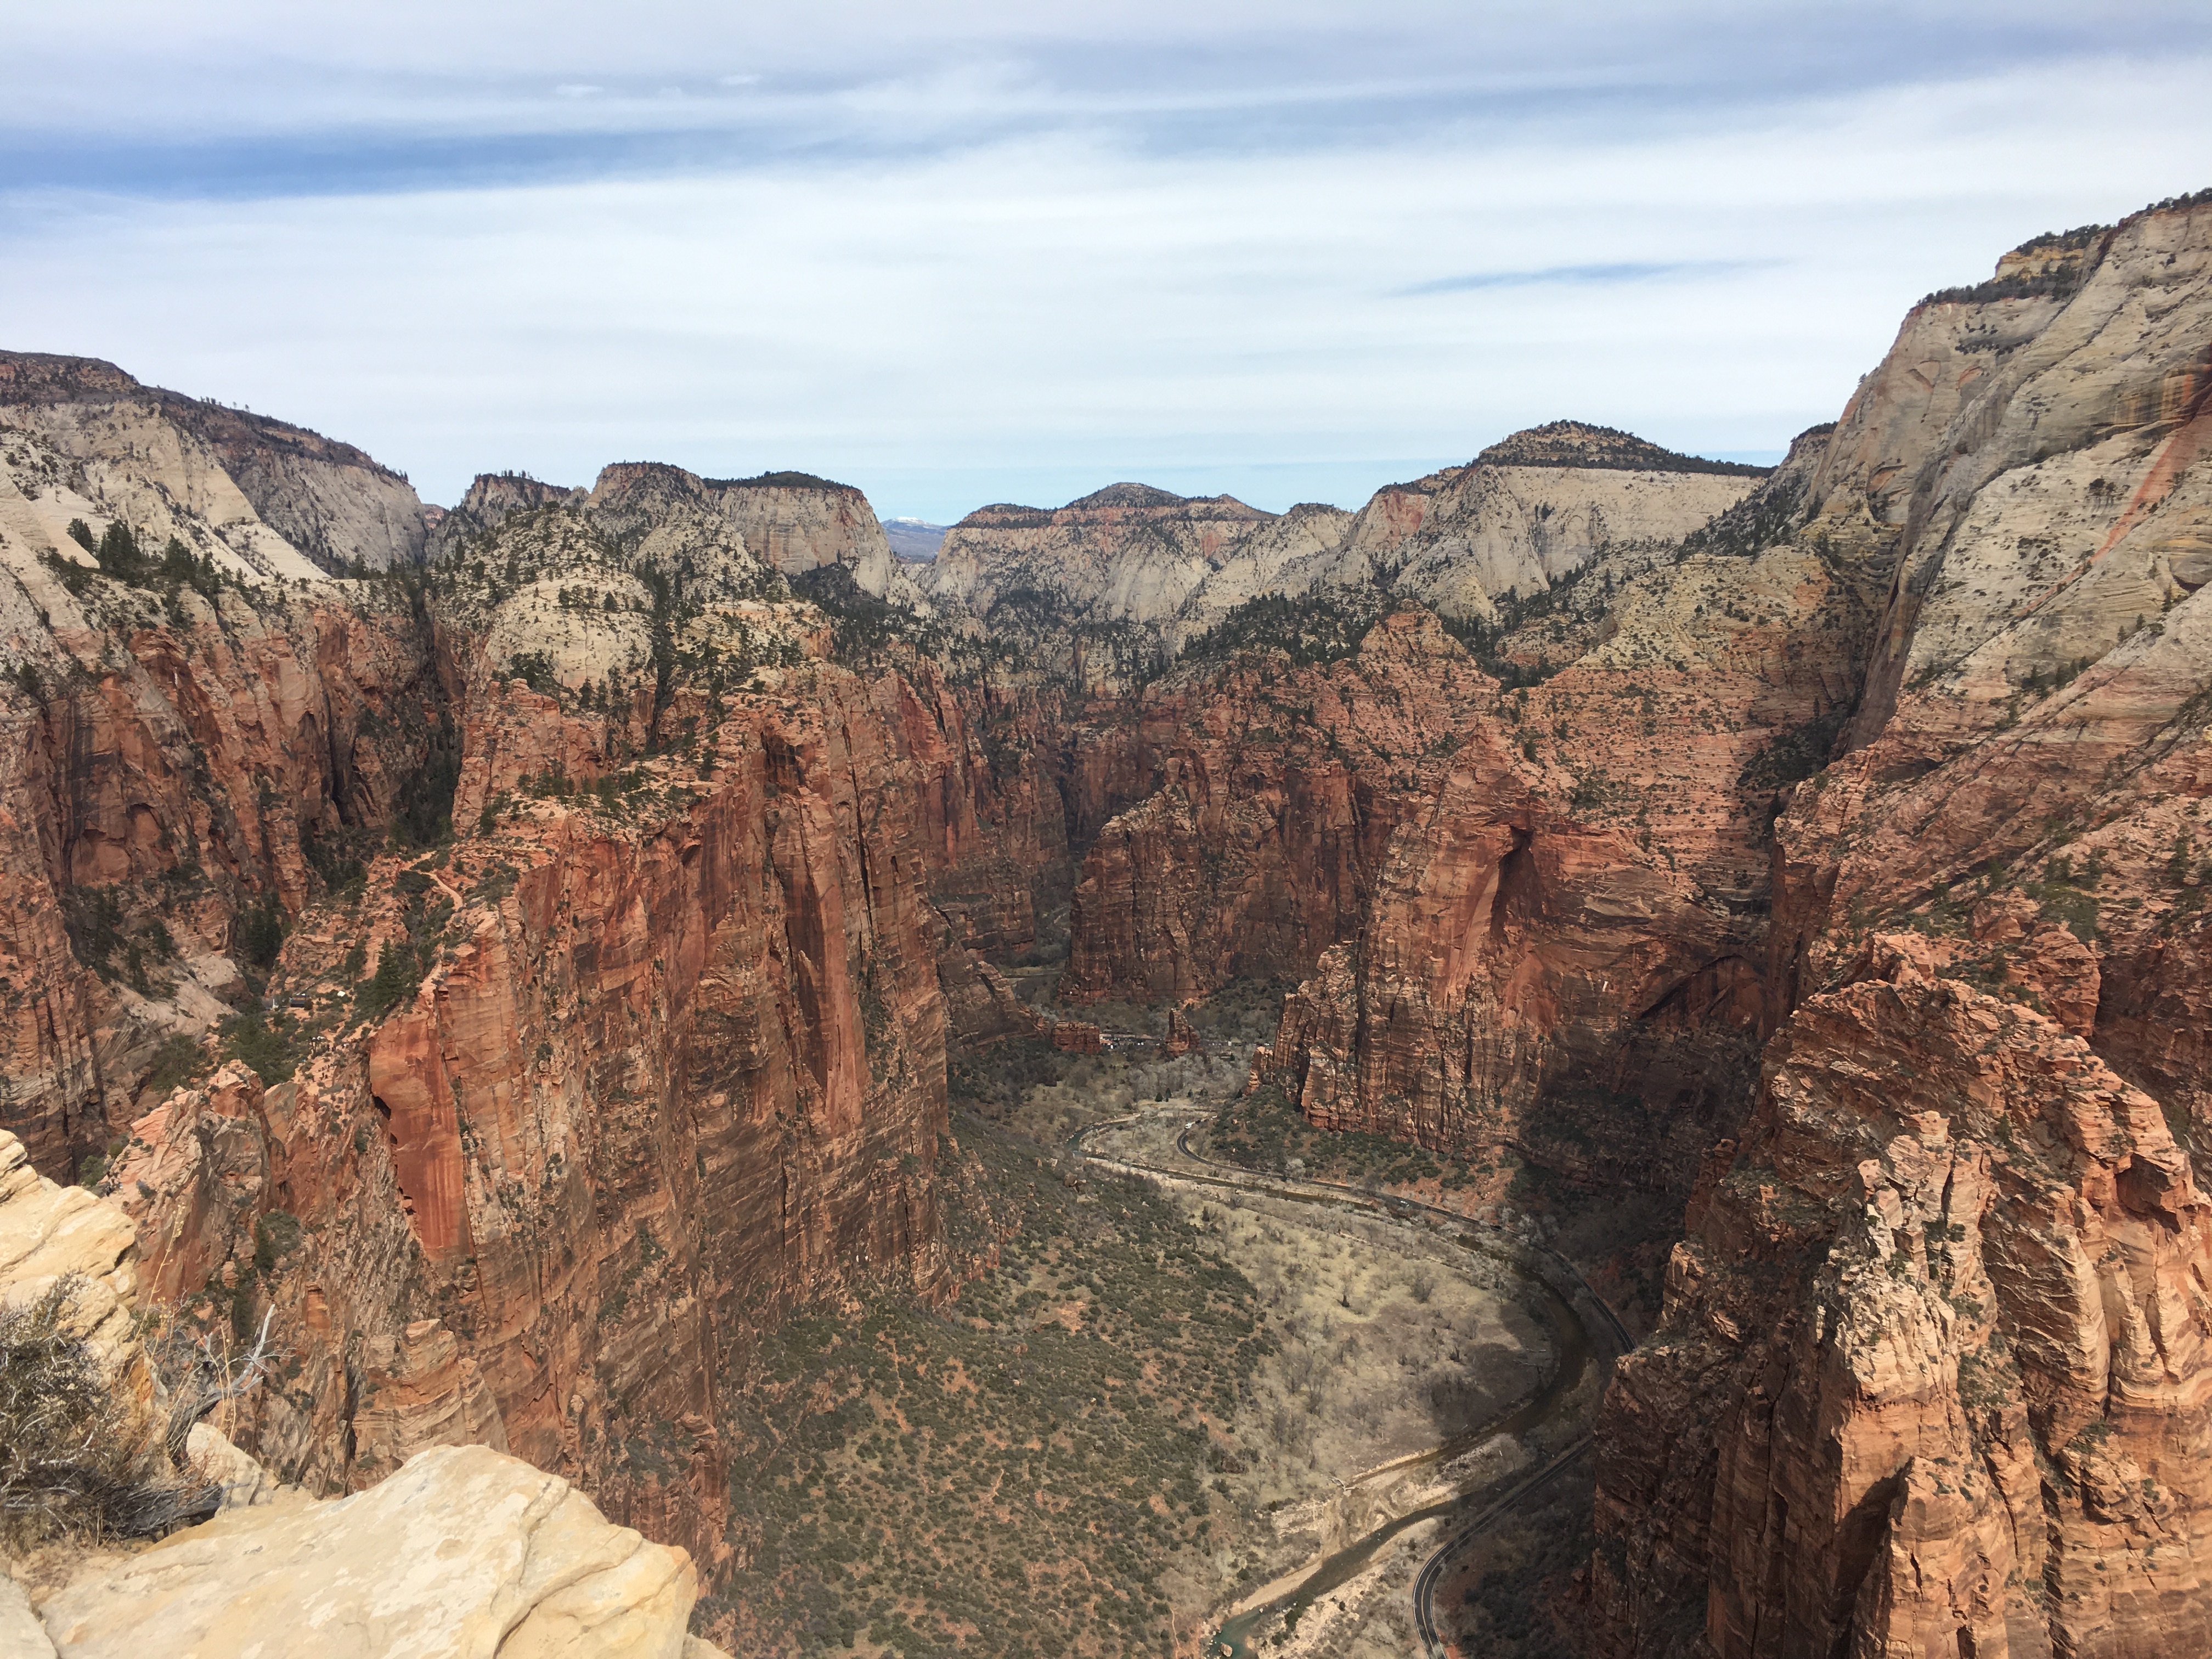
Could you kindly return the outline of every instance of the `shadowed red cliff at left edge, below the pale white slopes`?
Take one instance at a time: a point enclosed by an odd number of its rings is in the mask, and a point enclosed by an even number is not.
[[[51,1172],[102,1155],[173,1035],[243,993],[243,925],[327,883],[363,825],[436,827],[440,737],[403,595],[71,593],[0,546],[0,1124]],[[13,599],[9,599],[13,591]],[[44,622],[40,622],[44,619]]]

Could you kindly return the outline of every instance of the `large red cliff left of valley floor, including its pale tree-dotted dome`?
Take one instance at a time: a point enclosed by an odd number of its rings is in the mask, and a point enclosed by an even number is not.
[[[334,1011],[296,1075],[177,1091],[113,1179],[164,1296],[274,1310],[299,1376],[228,1427],[285,1480],[504,1444],[712,1571],[748,1332],[947,1283],[938,953],[1024,945],[1064,827],[929,664],[836,668],[719,520],[617,564],[604,511],[438,566],[458,841],[316,896],[272,980]],[[396,1006],[345,1020],[387,956]]]

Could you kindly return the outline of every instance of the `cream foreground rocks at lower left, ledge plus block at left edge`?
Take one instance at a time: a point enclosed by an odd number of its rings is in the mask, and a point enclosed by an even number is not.
[[[135,1254],[128,1217],[44,1181],[0,1133],[0,1305],[75,1283],[69,1318],[111,1387],[150,1402],[139,1314],[153,1307],[142,1310]],[[407,1332],[416,1347],[438,1334]],[[365,1498],[314,1504],[265,1491],[261,1471],[199,1425],[190,1453],[223,1478],[226,1513],[144,1555],[93,1551],[60,1593],[38,1597],[35,1619],[0,1577],[7,1652],[325,1652],[332,1641],[361,1652],[686,1652],[697,1575],[681,1548],[608,1526],[568,1482],[482,1444],[453,1447],[458,1438]]]

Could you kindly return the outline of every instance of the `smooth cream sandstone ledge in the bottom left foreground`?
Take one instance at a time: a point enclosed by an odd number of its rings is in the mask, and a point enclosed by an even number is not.
[[[62,1659],[703,1659],[695,1597],[690,1555],[566,1480],[436,1447],[372,1491],[234,1509],[100,1562],[40,1613]]]

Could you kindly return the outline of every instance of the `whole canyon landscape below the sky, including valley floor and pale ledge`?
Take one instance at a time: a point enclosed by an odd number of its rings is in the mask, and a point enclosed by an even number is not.
[[[0,1354],[190,1511],[0,1637],[2212,1652],[2208,394],[2212,192],[920,562],[0,352]]]

